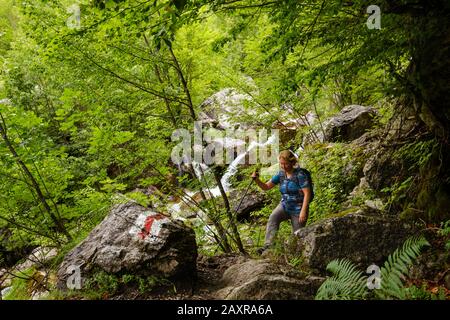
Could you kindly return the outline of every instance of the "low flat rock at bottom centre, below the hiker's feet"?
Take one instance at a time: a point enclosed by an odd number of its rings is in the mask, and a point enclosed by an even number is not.
[[[218,299],[229,300],[311,300],[324,278],[305,276],[299,271],[271,263],[247,260],[228,268],[221,280]]]

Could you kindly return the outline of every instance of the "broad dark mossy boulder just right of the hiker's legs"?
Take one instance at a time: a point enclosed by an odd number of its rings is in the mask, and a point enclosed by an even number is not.
[[[389,254],[413,233],[413,227],[379,211],[365,209],[343,217],[329,218],[300,229],[296,251],[313,273],[325,274],[327,264],[347,258],[364,270],[381,267]]]

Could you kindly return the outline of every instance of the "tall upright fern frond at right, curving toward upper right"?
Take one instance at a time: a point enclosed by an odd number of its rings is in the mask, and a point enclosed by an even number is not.
[[[403,246],[394,251],[381,268],[381,288],[375,291],[380,299],[405,299],[407,291],[403,282],[405,275],[413,261],[419,256],[424,246],[429,246],[423,237],[411,237]]]

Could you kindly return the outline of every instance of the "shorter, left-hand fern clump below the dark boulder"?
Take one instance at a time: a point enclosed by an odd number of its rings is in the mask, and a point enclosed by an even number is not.
[[[337,259],[327,265],[334,276],[319,288],[316,300],[358,299],[366,294],[366,276],[358,271],[350,260]]]

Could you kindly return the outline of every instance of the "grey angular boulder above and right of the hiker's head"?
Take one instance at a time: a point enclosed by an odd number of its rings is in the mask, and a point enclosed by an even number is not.
[[[348,142],[372,127],[376,110],[359,105],[346,106],[325,125],[324,142]]]

